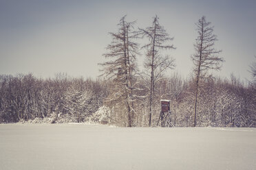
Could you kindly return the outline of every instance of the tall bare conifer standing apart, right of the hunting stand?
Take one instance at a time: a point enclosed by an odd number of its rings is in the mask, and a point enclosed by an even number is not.
[[[200,80],[209,77],[209,70],[220,70],[221,63],[224,61],[220,57],[221,50],[215,49],[215,41],[217,36],[213,34],[213,26],[210,22],[206,22],[205,16],[202,16],[195,23],[198,31],[198,38],[194,44],[195,54],[191,56],[194,64],[195,72],[195,112],[194,112],[194,126],[196,126],[196,112],[198,106],[198,92],[200,88]]]

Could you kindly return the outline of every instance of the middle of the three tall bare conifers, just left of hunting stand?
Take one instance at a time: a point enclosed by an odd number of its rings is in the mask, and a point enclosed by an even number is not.
[[[175,49],[173,45],[169,45],[169,41],[173,38],[169,37],[164,27],[159,24],[158,16],[153,17],[151,27],[140,29],[143,37],[149,38],[149,43],[144,45],[142,49],[147,49],[147,59],[145,68],[150,72],[150,94],[149,94],[149,127],[151,127],[152,103],[155,95],[155,87],[161,80],[164,71],[173,69],[174,60],[170,56],[162,56],[162,49]]]

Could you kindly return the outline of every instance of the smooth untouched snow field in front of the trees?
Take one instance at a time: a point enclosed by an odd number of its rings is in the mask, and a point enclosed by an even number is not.
[[[0,169],[256,169],[256,128],[0,125]]]

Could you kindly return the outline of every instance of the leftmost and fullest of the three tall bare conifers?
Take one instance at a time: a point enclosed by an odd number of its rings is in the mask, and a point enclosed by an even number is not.
[[[112,42],[107,46],[109,53],[104,54],[109,61],[101,64],[104,71],[103,75],[114,78],[115,82],[109,101],[125,104],[127,126],[129,127],[132,125],[134,113],[132,96],[136,54],[138,54],[138,44],[133,41],[134,38],[138,37],[137,32],[133,31],[134,23],[125,21],[125,16],[120,19],[118,33],[110,33]]]

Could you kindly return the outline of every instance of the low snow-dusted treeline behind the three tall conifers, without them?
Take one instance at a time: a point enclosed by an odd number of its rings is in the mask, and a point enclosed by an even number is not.
[[[140,78],[140,88],[133,104],[132,117],[122,101],[109,101],[114,81],[83,80],[59,74],[53,79],[39,79],[32,74],[0,76],[0,122],[14,123],[48,119],[48,123],[86,122],[126,127],[147,127],[149,122],[149,82]],[[198,97],[198,126],[256,127],[255,84],[245,85],[228,79],[201,83]],[[193,126],[195,84],[178,74],[164,77],[156,86],[152,101],[152,126],[160,114],[160,99],[171,100],[171,121],[177,127]],[[135,99],[134,99],[135,100]]]

